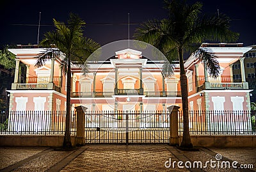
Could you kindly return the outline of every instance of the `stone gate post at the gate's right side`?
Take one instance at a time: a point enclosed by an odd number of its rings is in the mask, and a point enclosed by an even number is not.
[[[177,146],[179,145],[179,137],[178,137],[178,111],[179,106],[169,106],[167,107],[170,112],[170,138],[169,145]]]

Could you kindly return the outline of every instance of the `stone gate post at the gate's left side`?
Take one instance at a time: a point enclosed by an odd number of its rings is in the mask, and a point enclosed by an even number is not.
[[[85,143],[84,138],[84,127],[85,127],[85,114],[87,107],[84,106],[77,106],[75,107],[77,111],[77,125],[76,125],[76,145],[81,146]]]

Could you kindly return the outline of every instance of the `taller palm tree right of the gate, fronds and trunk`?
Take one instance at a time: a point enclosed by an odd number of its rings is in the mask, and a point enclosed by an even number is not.
[[[207,66],[209,75],[218,76],[220,66],[212,53],[199,49],[204,41],[233,42],[239,34],[230,31],[229,19],[225,15],[201,15],[202,4],[187,4],[186,0],[165,0],[169,12],[167,19],[148,20],[141,24],[134,33],[134,38],[156,46],[172,63],[176,54],[180,65],[180,88],[182,91],[183,137],[181,147],[193,148],[189,136],[188,85],[184,68],[184,52],[195,52]]]

